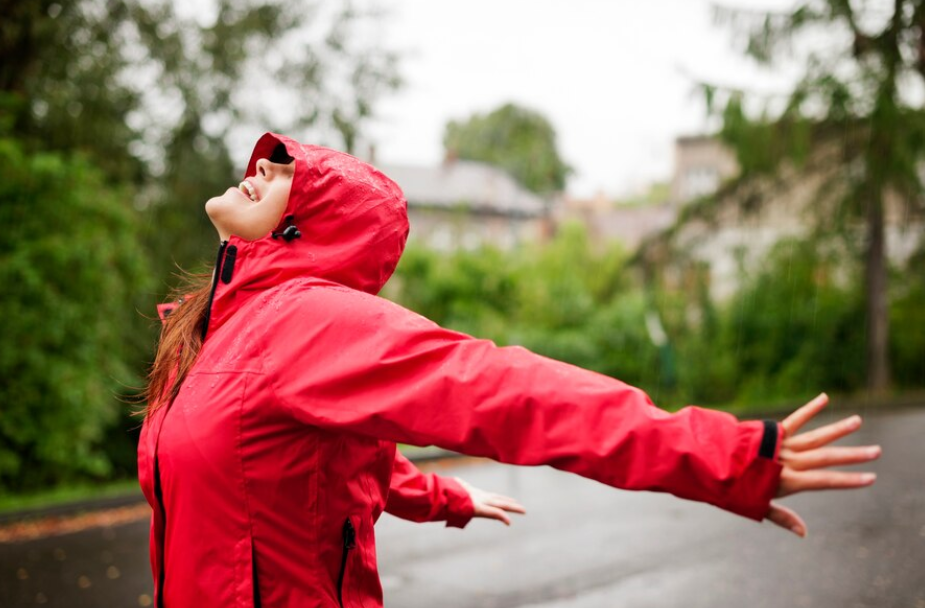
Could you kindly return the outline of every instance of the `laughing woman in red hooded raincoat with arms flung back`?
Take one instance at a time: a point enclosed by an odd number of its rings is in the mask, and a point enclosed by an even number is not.
[[[780,426],[668,414],[617,380],[376,297],[405,244],[405,201],[351,156],[266,134],[245,175],[206,203],[214,276],[168,318],[148,389],[138,462],[159,606],[381,606],[383,510],[457,526],[522,510],[422,475],[396,443],[667,491],[801,536],[774,496],[873,482],[818,470],[877,457],[827,447],[859,419],[795,435],[824,396]]]

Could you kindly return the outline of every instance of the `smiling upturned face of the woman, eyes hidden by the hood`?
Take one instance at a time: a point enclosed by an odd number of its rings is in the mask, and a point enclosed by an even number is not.
[[[249,176],[237,188],[228,188],[221,196],[206,202],[206,213],[219,237],[225,241],[235,235],[254,241],[267,235],[283,217],[295,162],[257,161],[256,175]]]

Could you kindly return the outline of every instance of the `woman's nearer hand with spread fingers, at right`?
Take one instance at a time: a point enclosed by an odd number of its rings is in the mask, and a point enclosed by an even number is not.
[[[782,423],[784,440],[779,461],[784,465],[780,474],[777,496],[789,496],[807,490],[850,490],[874,483],[874,473],[826,471],[827,467],[870,462],[880,457],[880,446],[833,447],[829,444],[861,428],[861,417],[851,416],[832,424],[797,434],[800,428],[828,404],[823,393],[790,414]],[[767,519],[797,536],[806,536],[806,523],[792,509],[771,503]]]

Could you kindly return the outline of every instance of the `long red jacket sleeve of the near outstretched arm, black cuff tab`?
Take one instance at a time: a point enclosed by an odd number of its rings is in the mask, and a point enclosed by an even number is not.
[[[668,413],[619,380],[324,285],[285,288],[266,333],[265,372],[298,420],[767,514],[781,469],[776,423]]]

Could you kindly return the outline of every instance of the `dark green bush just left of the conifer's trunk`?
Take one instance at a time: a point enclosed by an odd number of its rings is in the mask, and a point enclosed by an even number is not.
[[[734,353],[739,400],[846,393],[864,382],[858,271],[815,242],[784,241],[733,301],[721,345]]]

